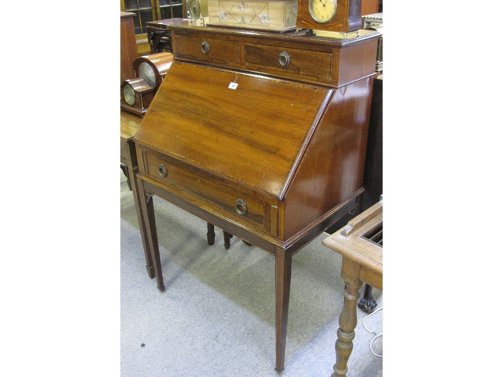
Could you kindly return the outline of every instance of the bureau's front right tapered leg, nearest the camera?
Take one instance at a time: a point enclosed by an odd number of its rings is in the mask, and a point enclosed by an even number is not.
[[[276,370],[285,368],[286,328],[288,304],[290,301],[290,281],[292,278],[292,254],[276,249]]]

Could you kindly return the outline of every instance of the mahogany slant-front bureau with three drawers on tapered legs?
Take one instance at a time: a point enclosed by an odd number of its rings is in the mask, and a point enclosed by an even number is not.
[[[361,207],[379,33],[151,24],[169,30],[175,57],[134,137],[157,287],[153,195],[273,254],[281,371],[292,256]]]

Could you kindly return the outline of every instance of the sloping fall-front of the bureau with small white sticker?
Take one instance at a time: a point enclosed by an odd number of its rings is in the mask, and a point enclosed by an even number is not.
[[[134,139],[281,199],[331,92],[175,61]]]

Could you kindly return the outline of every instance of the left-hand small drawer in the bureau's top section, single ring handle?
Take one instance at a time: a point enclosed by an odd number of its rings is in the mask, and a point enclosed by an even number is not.
[[[176,35],[175,57],[224,65],[239,64],[239,42],[199,36]]]

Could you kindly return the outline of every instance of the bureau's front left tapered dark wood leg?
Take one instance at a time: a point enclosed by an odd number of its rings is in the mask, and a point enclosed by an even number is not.
[[[164,281],[162,279],[162,269],[160,265],[159,243],[157,241],[157,228],[155,227],[154,204],[152,194],[145,192],[141,179],[138,179],[138,192],[143,218],[145,219],[145,230],[148,245],[150,248],[155,277],[157,278],[157,288],[164,291]]]

